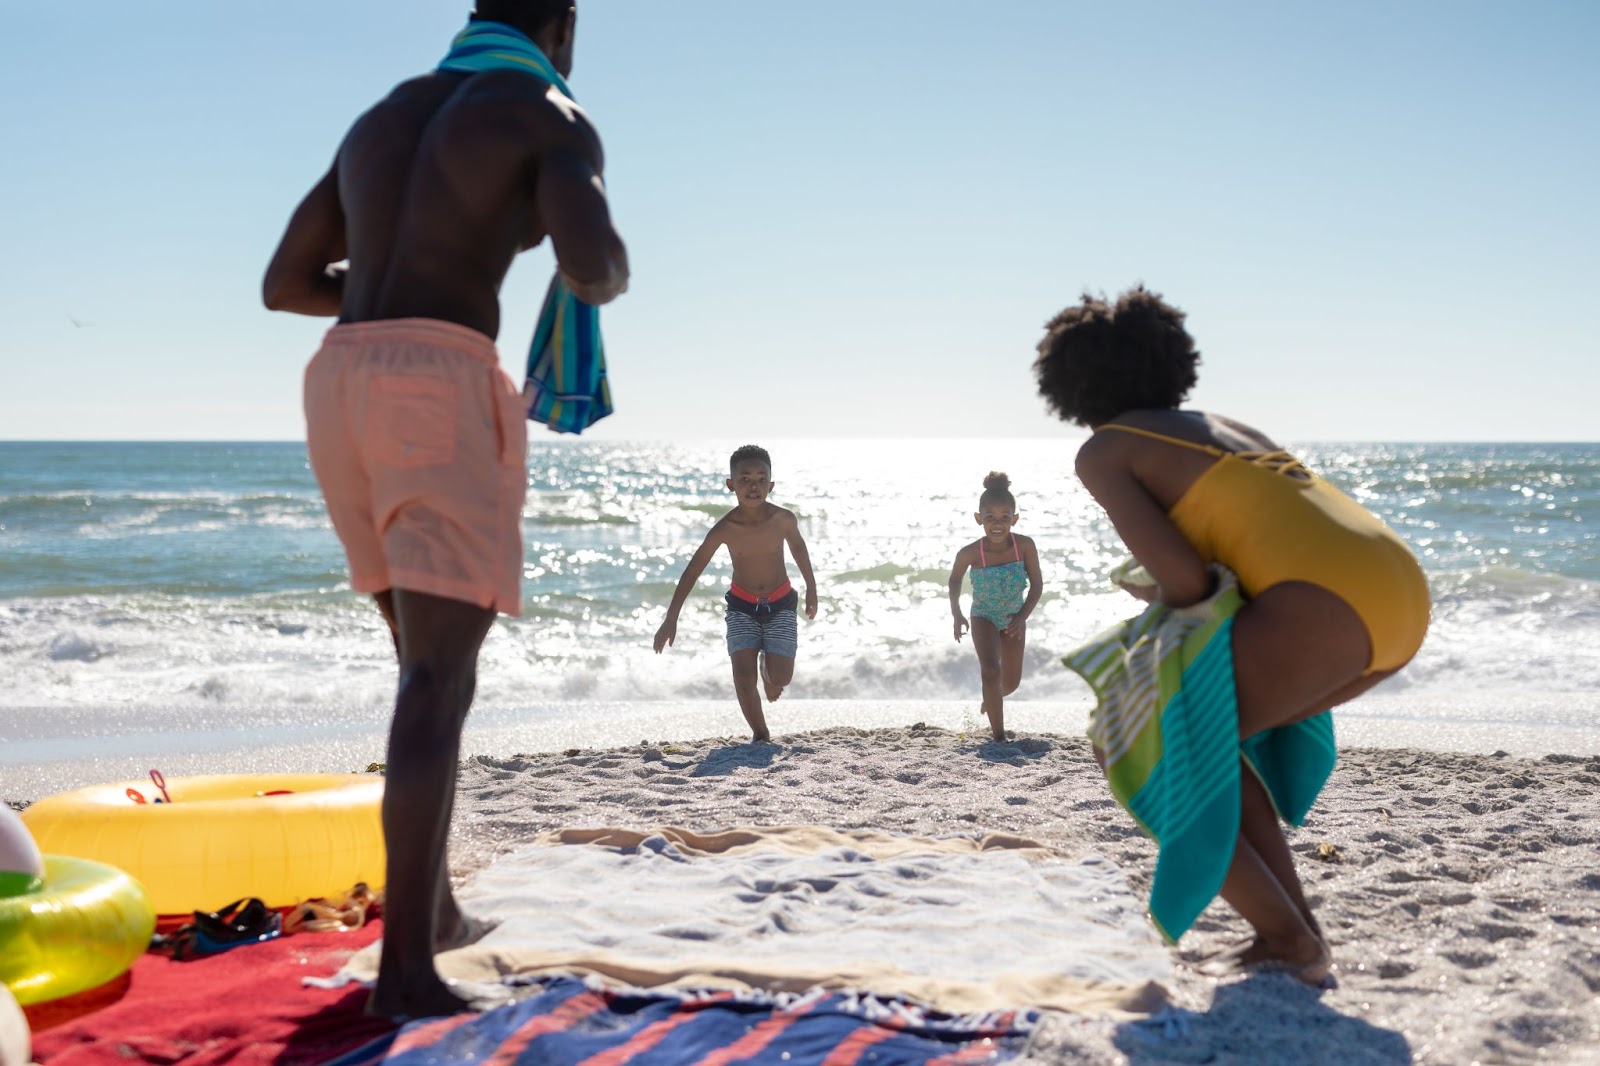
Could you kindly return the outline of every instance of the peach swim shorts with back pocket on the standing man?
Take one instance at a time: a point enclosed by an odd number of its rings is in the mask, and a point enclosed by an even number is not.
[[[528,423],[494,341],[434,319],[333,327],[306,440],[357,592],[522,611]]]

